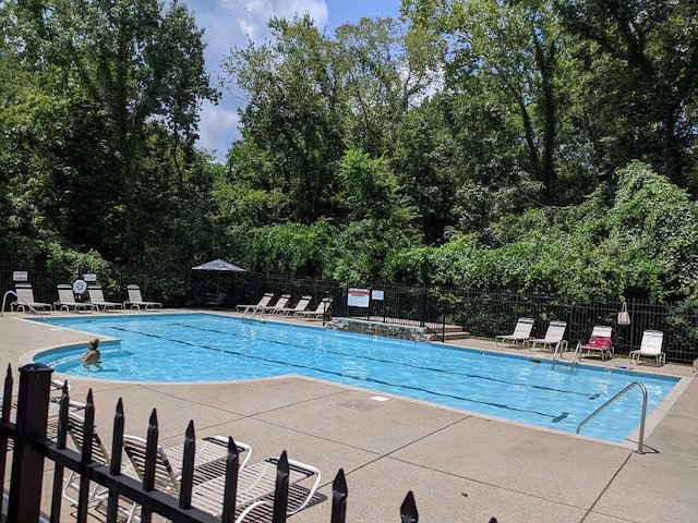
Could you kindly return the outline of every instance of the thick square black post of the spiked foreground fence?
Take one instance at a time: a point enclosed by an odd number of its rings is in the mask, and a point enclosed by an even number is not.
[[[20,368],[17,439],[12,457],[8,521],[36,523],[41,512],[44,457],[26,445],[26,437],[46,437],[51,374],[47,365],[33,363]]]

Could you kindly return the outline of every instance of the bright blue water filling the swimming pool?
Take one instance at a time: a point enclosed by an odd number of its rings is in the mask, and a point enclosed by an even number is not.
[[[568,433],[633,381],[650,412],[676,378],[604,369],[210,314],[51,318],[55,326],[119,338],[101,343],[100,368],[80,363],[85,346],[35,357],[57,372],[136,381],[219,381],[298,374],[390,392]],[[85,345],[89,336],[85,336]],[[622,441],[639,424],[633,389],[582,433]]]

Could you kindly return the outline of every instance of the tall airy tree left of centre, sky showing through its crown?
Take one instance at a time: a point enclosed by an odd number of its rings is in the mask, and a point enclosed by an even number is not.
[[[245,148],[253,147],[252,156],[264,158],[262,166],[230,165],[230,172],[253,188],[287,194],[293,202],[288,218],[312,223],[334,214],[346,104],[333,45],[312,19],[308,14],[292,21],[272,19],[268,25],[270,41],[250,42],[224,62],[231,82],[250,100],[241,113]],[[234,154],[231,159],[252,156]]]

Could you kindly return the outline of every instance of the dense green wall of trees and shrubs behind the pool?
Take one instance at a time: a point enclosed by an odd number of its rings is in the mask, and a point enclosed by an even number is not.
[[[402,0],[225,57],[249,102],[225,165],[180,3],[0,3],[0,248],[171,277],[248,269],[696,296],[698,4]],[[137,269],[135,269],[137,268]]]

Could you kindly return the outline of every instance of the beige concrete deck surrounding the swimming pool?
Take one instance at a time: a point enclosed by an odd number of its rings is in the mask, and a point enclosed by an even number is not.
[[[4,313],[0,318],[0,353],[15,376],[27,352],[86,345],[84,333],[24,317]],[[450,344],[551,357],[492,341]],[[614,367],[628,360],[593,364]],[[108,446],[121,398],[128,434],[145,436],[157,409],[164,447],[180,443],[193,419],[197,438],[230,435],[250,443],[253,462],[286,449],[289,458],[317,466],[323,479],[316,502],[292,515],[294,523],[330,521],[332,482],[340,467],[351,522],[399,521],[409,490],[424,522],[698,521],[698,381],[689,365],[638,368],[685,378],[649,416],[645,454],[636,453],[631,441],[610,443],[298,376],[201,385],[68,378],[73,399],[82,401],[93,390],[98,431]],[[73,521],[70,513],[63,510],[61,521]],[[262,514],[254,521],[270,520]]]

